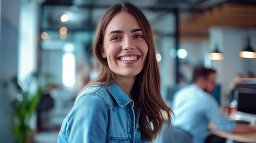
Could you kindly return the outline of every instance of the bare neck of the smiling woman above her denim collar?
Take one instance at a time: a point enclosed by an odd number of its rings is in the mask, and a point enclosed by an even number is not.
[[[134,86],[136,76],[116,75],[115,82],[131,98],[131,89]]]

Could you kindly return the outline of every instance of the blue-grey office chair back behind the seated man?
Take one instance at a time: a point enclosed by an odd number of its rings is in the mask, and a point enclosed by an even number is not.
[[[192,136],[184,130],[175,126],[169,127],[164,123],[162,128],[163,143],[192,143]]]

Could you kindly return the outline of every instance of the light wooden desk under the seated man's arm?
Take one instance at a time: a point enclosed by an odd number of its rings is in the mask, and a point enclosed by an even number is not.
[[[211,133],[222,138],[229,139],[230,141],[238,141],[238,142],[256,142],[256,132],[249,133],[229,133],[218,130],[214,128],[214,125],[210,123],[209,128]]]

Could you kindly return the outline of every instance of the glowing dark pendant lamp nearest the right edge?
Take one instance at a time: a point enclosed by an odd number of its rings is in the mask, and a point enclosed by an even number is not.
[[[247,45],[243,49],[243,51],[239,52],[239,56],[241,58],[256,58],[256,52],[252,49],[250,44],[250,38],[247,38]]]

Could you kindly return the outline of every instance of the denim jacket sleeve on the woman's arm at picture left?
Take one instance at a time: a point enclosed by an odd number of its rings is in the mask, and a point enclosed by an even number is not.
[[[106,142],[107,105],[95,95],[80,97],[74,104],[66,122],[69,142]]]

